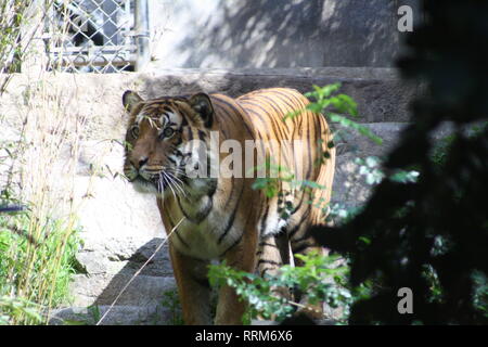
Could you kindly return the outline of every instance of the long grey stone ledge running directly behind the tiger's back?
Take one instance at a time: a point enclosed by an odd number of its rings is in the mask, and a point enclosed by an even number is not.
[[[204,91],[230,97],[270,87],[287,87],[308,92],[312,86],[342,82],[341,93],[358,103],[360,121],[408,121],[409,103],[419,86],[404,83],[393,68],[242,68],[163,69],[141,74],[136,85],[146,98]]]

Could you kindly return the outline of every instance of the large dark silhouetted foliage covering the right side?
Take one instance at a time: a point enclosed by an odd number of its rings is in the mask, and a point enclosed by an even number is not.
[[[351,285],[382,280],[374,295],[355,303],[350,323],[488,323],[488,128],[475,137],[466,131],[488,119],[488,3],[424,7],[428,21],[411,34],[400,68],[427,88],[385,162],[388,170],[414,167],[420,179],[383,180],[350,222],[311,230],[321,244],[350,255]],[[431,139],[446,121],[454,131],[438,169]],[[412,290],[413,313],[397,310],[401,287]]]

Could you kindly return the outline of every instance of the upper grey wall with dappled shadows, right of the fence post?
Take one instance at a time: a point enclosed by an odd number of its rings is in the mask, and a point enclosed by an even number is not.
[[[181,0],[164,4],[170,24],[154,55],[165,68],[391,66],[398,8],[416,2]]]

